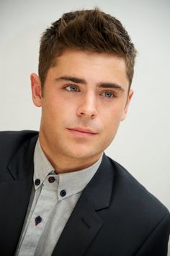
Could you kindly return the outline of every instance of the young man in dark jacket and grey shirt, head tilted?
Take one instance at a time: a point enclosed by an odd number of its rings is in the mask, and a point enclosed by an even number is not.
[[[136,50],[99,9],[45,30],[32,99],[40,132],[1,132],[1,255],[164,256],[169,211],[104,155],[133,90]]]

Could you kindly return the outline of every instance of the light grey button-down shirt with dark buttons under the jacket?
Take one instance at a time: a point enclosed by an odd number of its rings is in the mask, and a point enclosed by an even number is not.
[[[89,168],[55,174],[37,140],[34,185],[16,256],[50,256],[71,216],[81,192],[102,161]]]

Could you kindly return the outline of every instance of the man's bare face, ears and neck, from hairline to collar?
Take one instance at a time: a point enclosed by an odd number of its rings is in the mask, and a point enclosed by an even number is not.
[[[40,144],[57,173],[91,166],[114,139],[133,90],[125,60],[67,49],[48,70],[42,90],[31,74],[32,99],[42,108]]]

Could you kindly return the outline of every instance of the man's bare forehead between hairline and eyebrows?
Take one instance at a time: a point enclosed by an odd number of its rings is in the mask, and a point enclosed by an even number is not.
[[[67,49],[56,58],[49,73],[56,77],[76,76],[87,82],[129,83],[126,61],[115,54]]]

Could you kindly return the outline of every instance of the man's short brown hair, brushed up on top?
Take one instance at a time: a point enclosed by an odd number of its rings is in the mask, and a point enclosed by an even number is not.
[[[40,41],[39,76],[42,86],[48,69],[66,48],[117,54],[125,59],[131,85],[136,50],[121,22],[98,8],[67,12],[52,23]]]

